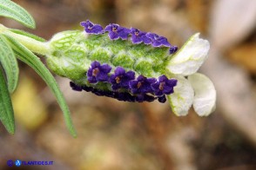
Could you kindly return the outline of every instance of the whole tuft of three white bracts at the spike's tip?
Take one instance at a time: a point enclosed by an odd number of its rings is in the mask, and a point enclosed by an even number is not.
[[[178,80],[174,93],[168,96],[174,114],[186,115],[192,105],[200,116],[209,115],[214,111],[214,85],[208,77],[196,73],[205,62],[209,49],[210,43],[200,39],[197,33],[185,42],[169,62],[167,70]]]

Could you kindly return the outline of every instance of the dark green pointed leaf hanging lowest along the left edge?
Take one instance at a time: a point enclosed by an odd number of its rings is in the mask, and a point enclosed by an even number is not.
[[[5,82],[3,69],[0,67],[0,121],[10,134],[15,132],[14,114],[10,93]]]

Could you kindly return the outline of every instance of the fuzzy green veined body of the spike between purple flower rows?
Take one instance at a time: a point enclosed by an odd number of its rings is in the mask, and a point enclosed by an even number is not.
[[[153,48],[121,39],[111,41],[107,34],[88,35],[79,30],[58,33],[49,43],[49,68],[79,84],[86,83],[84,73],[93,61],[108,63],[113,68],[122,66],[137,75],[158,77],[165,74],[163,66],[172,57],[165,47]]]

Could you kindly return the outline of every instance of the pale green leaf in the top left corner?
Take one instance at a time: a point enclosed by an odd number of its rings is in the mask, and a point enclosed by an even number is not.
[[[0,16],[10,17],[30,29],[36,28],[33,17],[24,8],[10,0],[0,0]]]

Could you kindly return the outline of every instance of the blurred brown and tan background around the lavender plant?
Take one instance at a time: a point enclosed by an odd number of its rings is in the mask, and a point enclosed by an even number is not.
[[[0,169],[6,160],[52,160],[53,166],[19,169],[256,169],[255,0],[24,0],[37,29],[10,19],[4,25],[50,39],[83,29],[90,19],[166,36],[179,47],[194,33],[211,42],[201,73],[217,88],[208,117],[172,114],[168,103],[129,103],[75,92],[56,76],[71,108],[77,139],[68,133],[50,89],[24,63],[12,95],[17,132],[0,125]],[[44,62],[44,57],[41,57]]]

